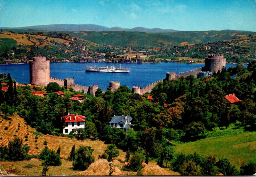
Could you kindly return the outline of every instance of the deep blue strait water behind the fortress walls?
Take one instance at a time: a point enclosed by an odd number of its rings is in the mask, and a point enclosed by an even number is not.
[[[107,90],[109,81],[120,81],[120,85],[145,87],[146,85],[166,77],[166,72],[189,71],[204,64],[181,63],[124,63],[122,67],[131,68],[130,73],[98,73],[85,72],[84,66],[94,66],[94,63],[50,63],[50,76],[64,79],[74,77],[77,84],[89,86],[99,85],[102,90]],[[96,63],[96,67],[113,66],[113,63]],[[119,67],[118,63],[114,63]],[[226,67],[236,64],[226,64]],[[29,83],[29,64],[0,65],[0,73],[10,73],[12,78],[19,83]]]

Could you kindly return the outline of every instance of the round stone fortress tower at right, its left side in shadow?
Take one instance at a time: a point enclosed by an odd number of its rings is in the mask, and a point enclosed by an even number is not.
[[[204,71],[217,73],[223,66],[226,67],[226,58],[224,58],[223,54],[211,53],[205,58]]]

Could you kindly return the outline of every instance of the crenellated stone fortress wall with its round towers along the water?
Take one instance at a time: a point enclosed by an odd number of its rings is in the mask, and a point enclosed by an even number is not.
[[[199,67],[187,72],[180,72],[176,74],[174,72],[167,72],[166,78],[155,81],[144,88],[140,88],[139,86],[132,87],[132,93],[138,93],[140,95],[144,95],[145,93],[149,93],[156,86],[157,83],[171,80],[176,80],[179,77],[187,77],[189,75],[197,76],[197,73],[201,72],[202,69],[204,71],[210,72],[218,72],[219,69],[226,66],[226,58],[222,54],[208,54],[208,57],[205,58],[204,68]],[[46,57],[33,57],[33,61],[29,62],[29,71],[30,71],[30,83],[36,85],[47,86],[49,82],[57,82],[60,86],[65,86],[67,89],[73,88],[75,91],[82,91],[84,93],[89,93],[95,95],[96,90],[99,88],[98,85],[90,85],[82,86],[74,83],[74,78],[65,78],[56,79],[50,77],[50,62],[46,60]],[[116,91],[117,88],[120,87],[119,81],[110,81],[108,90],[112,92]]]

